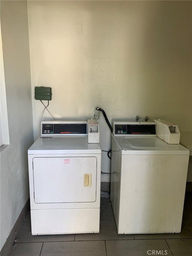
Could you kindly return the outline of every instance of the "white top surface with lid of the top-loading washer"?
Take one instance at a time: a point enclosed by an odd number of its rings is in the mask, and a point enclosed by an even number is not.
[[[183,146],[167,144],[158,137],[112,137],[122,155],[189,155],[189,150]]]

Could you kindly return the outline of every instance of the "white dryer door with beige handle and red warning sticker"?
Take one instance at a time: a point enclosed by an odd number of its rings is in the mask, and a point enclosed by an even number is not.
[[[96,201],[96,157],[33,158],[35,203]]]

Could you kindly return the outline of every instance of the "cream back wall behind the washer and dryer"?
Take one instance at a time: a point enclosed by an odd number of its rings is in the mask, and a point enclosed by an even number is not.
[[[58,119],[85,119],[99,106],[110,121],[147,114],[191,131],[191,4],[28,1],[35,139],[43,110],[35,86],[52,87],[49,110]],[[82,23],[80,35],[76,23]],[[100,131],[108,150],[103,118]],[[102,171],[110,172],[107,153]]]

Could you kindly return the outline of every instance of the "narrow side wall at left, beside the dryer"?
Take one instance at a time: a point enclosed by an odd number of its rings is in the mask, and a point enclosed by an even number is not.
[[[1,1],[0,7],[10,139],[10,145],[1,146],[1,249],[29,198],[27,149],[33,122],[27,2]]]

